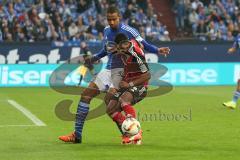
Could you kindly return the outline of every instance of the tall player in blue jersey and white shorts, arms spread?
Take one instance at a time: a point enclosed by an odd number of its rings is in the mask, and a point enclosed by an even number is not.
[[[118,33],[124,33],[129,39],[135,39],[141,43],[144,49],[148,52],[164,56],[169,54],[170,49],[168,47],[158,48],[149,44],[140,36],[136,29],[121,23],[120,11],[116,7],[113,6],[108,8],[107,21],[109,26],[104,29],[105,44],[113,42]],[[89,112],[89,104],[91,100],[97,96],[100,91],[107,91],[106,103],[108,103],[109,98],[107,97],[114,95],[119,88],[119,83],[122,79],[121,73],[123,72],[123,62],[121,61],[119,55],[112,54],[115,50],[112,50],[109,46],[110,45],[105,45],[99,53],[91,59],[86,60],[87,63],[93,63],[106,55],[109,58],[106,69],[99,72],[92,82],[89,83],[88,88],[82,92],[76,113],[75,131],[70,135],[60,136],[59,139],[64,142],[81,143],[82,129]]]

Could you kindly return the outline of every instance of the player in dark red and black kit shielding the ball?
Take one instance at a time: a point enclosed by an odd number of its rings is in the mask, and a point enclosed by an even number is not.
[[[117,53],[121,55],[124,64],[124,75],[119,83],[119,90],[110,100],[107,113],[113,121],[121,125],[126,118],[136,118],[134,104],[147,95],[148,80],[151,75],[145,60],[142,46],[136,40],[128,40],[124,33],[115,38]],[[125,114],[123,114],[123,111]],[[123,135],[122,143],[137,143],[142,140],[142,131],[132,137]]]

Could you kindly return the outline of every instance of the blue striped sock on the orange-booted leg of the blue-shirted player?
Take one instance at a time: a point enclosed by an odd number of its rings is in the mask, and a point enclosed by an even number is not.
[[[76,113],[76,122],[75,122],[75,134],[77,138],[81,138],[82,129],[89,111],[89,104],[84,102],[79,102],[77,113]]]

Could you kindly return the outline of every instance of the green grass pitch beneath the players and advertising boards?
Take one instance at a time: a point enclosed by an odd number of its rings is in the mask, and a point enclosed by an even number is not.
[[[231,99],[234,89],[175,87],[166,95],[146,98],[136,105],[143,145],[123,146],[117,127],[106,115],[86,122],[83,144],[58,140],[59,135],[73,130],[73,122],[58,119],[55,105],[62,99],[73,99],[74,111],[79,96],[59,94],[48,88],[0,88],[0,159],[239,159],[240,110],[229,110],[221,104]],[[8,99],[27,108],[47,126],[34,126],[7,103]],[[99,102],[94,100],[92,106]]]

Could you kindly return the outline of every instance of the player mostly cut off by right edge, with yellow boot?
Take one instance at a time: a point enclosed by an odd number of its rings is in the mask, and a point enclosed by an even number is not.
[[[233,46],[228,49],[228,53],[232,54],[236,52],[239,47],[240,47],[240,35],[237,36],[236,40],[233,43]],[[224,102],[223,105],[228,108],[235,109],[237,107],[237,101],[239,97],[240,97],[240,79],[238,79],[237,89],[233,94],[233,99],[231,101]]]

